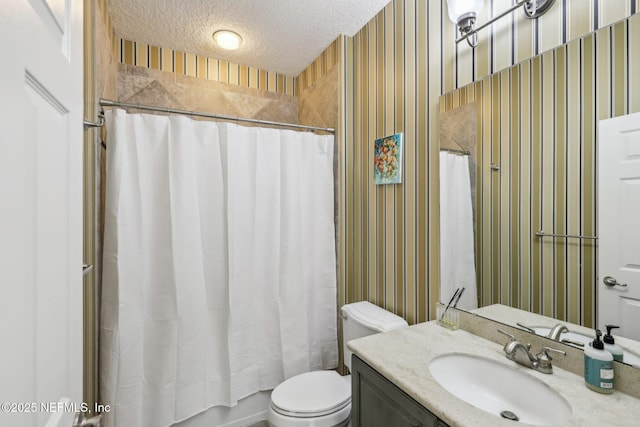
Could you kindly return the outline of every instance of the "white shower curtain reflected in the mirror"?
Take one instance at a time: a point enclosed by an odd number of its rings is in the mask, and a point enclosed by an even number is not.
[[[478,307],[469,156],[440,152],[440,300],[464,287],[459,308]]]

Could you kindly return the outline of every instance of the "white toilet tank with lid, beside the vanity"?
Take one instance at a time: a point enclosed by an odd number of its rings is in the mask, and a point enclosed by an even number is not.
[[[342,306],[342,354],[344,364],[351,370],[351,350],[347,343],[356,338],[366,337],[408,326],[406,320],[368,301],[354,302]]]

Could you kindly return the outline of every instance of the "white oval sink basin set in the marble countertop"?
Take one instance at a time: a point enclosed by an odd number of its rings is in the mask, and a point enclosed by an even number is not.
[[[431,360],[429,372],[457,398],[498,417],[515,415],[523,423],[549,425],[563,424],[572,414],[560,393],[506,363],[448,353]]]

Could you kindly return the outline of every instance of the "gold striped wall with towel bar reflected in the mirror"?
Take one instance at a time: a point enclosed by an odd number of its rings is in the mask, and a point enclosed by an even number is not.
[[[478,104],[482,305],[594,326],[595,243],[533,233],[598,234],[598,121],[640,111],[638,82],[634,15],[441,98],[441,111]]]

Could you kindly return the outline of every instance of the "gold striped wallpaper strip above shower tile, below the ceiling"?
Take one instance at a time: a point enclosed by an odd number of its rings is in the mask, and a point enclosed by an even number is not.
[[[117,39],[120,63],[248,87],[283,95],[295,95],[295,79],[273,71],[234,64],[146,43]]]

